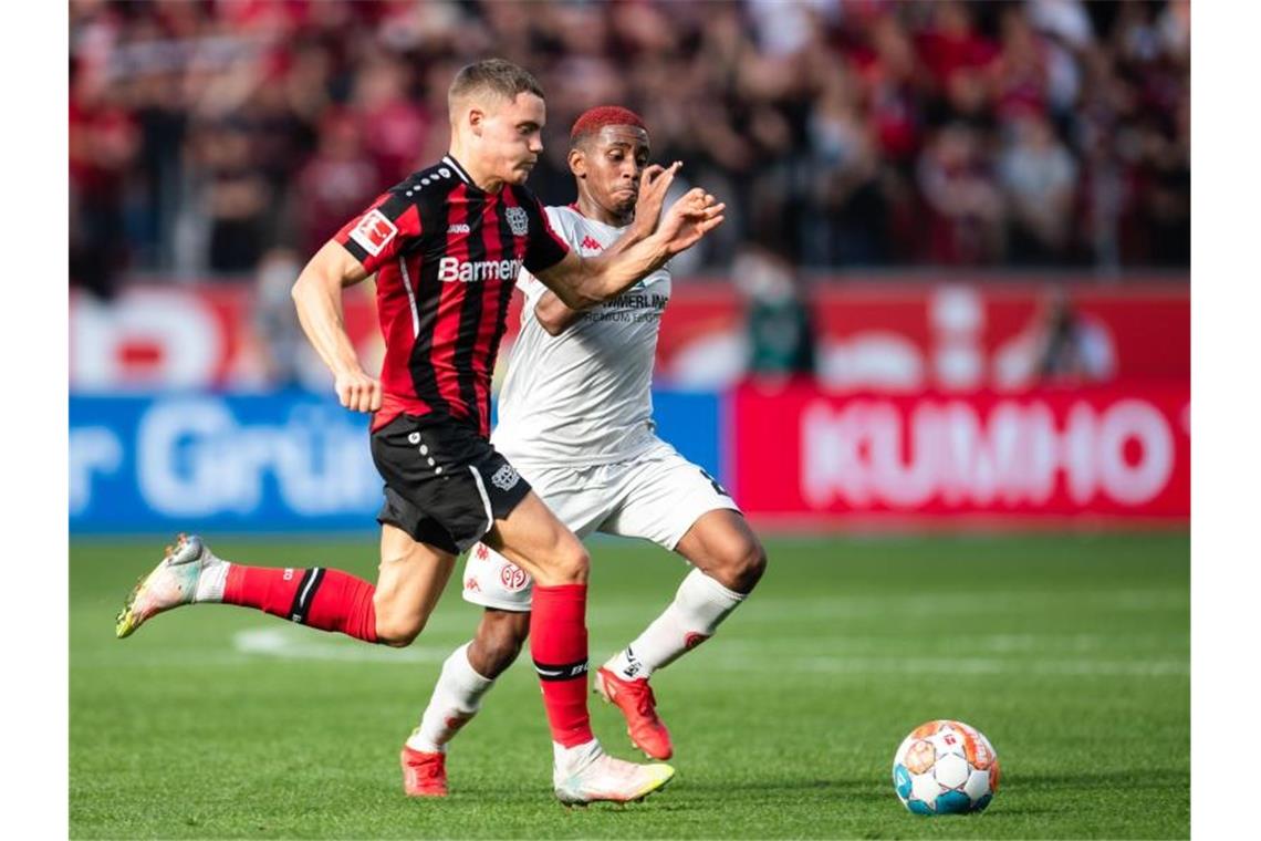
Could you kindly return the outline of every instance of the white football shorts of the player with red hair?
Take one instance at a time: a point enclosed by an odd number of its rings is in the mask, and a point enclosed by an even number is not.
[[[673,551],[710,511],[740,511],[714,477],[658,440],[634,459],[572,468],[516,465],[552,513],[585,540],[591,532],[642,537]],[[530,610],[533,580],[485,543],[464,561],[464,600],[485,608]]]

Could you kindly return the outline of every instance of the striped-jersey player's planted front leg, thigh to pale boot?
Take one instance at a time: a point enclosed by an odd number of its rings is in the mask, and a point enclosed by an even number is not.
[[[586,710],[586,576],[583,543],[535,494],[496,522],[484,542],[535,579],[530,651],[552,731],[556,797],[566,804],[636,801],[675,769],[637,765],[604,753]]]

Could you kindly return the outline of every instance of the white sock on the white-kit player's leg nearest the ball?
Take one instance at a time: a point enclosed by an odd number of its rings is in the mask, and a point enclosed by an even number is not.
[[[614,654],[605,668],[627,681],[648,677],[712,637],[744,599],[744,593],[728,590],[700,570],[692,570],[678,585],[678,593],[665,613],[634,642]]]

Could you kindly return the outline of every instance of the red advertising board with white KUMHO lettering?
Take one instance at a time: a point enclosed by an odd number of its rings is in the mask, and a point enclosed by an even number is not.
[[[1183,523],[1190,388],[731,396],[726,474],[763,522]]]

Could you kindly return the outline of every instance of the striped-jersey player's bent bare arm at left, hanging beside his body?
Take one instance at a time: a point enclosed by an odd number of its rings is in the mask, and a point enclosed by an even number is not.
[[[298,275],[291,293],[303,332],[333,372],[338,400],[357,412],[381,409],[381,382],[363,371],[346,333],[342,289],[367,276],[354,255],[329,240]]]

